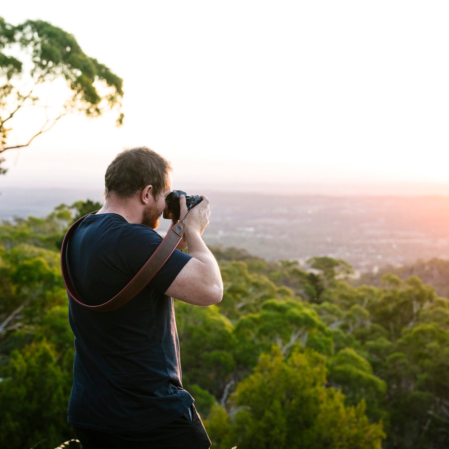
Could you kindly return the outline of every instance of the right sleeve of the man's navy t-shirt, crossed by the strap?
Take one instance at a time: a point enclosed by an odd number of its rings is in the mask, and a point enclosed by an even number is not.
[[[130,280],[144,266],[162,242],[162,237],[145,225],[129,225],[123,230],[117,243],[115,262],[130,276]],[[192,256],[180,251],[173,251],[167,262],[150,281],[150,286],[165,293],[179,272]]]

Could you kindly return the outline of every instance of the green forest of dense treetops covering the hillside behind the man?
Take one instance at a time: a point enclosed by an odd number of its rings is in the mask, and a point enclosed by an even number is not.
[[[74,438],[59,248],[70,224],[99,206],[62,204],[0,225],[2,448],[54,449]],[[313,257],[310,272],[211,250],[223,300],[176,301],[176,323],[183,386],[213,448],[449,447],[449,300],[435,286],[410,269],[356,286],[344,260]]]

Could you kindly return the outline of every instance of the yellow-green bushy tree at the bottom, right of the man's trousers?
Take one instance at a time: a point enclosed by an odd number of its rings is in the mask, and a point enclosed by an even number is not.
[[[364,402],[345,407],[343,394],[325,384],[325,357],[306,350],[284,359],[273,347],[238,384],[233,418],[212,410],[205,427],[213,447],[380,449],[382,424],[368,423]]]

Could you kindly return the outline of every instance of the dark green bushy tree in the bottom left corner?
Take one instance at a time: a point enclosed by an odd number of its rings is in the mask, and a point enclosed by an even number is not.
[[[11,353],[1,372],[0,447],[54,448],[73,435],[66,419],[73,350],[58,358],[45,340]]]

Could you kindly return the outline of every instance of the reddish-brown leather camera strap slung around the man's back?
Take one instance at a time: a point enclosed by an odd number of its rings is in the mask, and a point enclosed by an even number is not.
[[[92,212],[92,214],[96,214],[98,211]],[[62,241],[61,248],[61,272],[62,279],[66,286],[67,291],[70,296],[78,303],[84,307],[90,308],[97,312],[109,312],[110,310],[115,310],[126,304],[130,301],[134,296],[136,296],[140,291],[144,289],[144,287],[153,279],[153,277],[158,273],[163,264],[167,262],[167,259],[172,255],[172,252],[175,251],[175,248],[178,246],[178,243],[181,241],[181,238],[184,234],[184,223],[178,221],[175,223],[167,235],[164,237],[163,241],[156,248],[156,251],[151,255],[150,259],[148,259],[145,265],[140,269],[140,271],[132,278],[132,280],[128,283],[126,287],[123,288],[120,293],[114,296],[114,298],[110,299],[104,304],[99,304],[96,306],[91,306],[88,304],[84,304],[84,302],[79,298],[76,294],[75,288],[70,281],[69,273],[67,271],[67,260],[66,260],[66,252],[67,252],[67,243],[70,240],[70,237],[75,232],[75,229],[78,225],[86,218],[87,214],[84,217],[81,217],[79,220],[75,221],[73,225],[70,226],[69,230]]]

